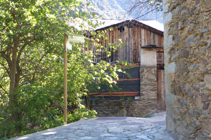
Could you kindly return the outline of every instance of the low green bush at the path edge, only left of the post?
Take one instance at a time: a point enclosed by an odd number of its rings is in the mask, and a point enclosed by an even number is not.
[[[18,135],[24,135],[29,132],[62,125],[59,109],[51,107],[55,98],[47,91],[49,91],[49,87],[35,85],[26,85],[19,89],[17,91],[18,106],[15,106],[12,111],[9,111],[6,107],[2,114],[13,114],[13,112],[16,112],[20,119],[11,121],[8,116],[1,115],[0,138],[7,135],[7,133],[12,134],[12,136],[17,135],[15,129],[17,127],[21,129],[21,134]]]

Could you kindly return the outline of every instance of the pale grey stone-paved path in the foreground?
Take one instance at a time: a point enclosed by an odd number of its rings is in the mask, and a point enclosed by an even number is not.
[[[165,112],[151,118],[97,117],[12,140],[173,140],[166,132]]]

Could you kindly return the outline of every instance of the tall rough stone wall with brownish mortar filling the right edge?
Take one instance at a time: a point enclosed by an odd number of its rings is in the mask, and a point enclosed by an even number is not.
[[[167,130],[211,139],[211,0],[164,0]]]

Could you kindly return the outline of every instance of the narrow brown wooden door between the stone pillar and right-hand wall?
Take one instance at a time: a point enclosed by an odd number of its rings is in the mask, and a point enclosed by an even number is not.
[[[164,53],[157,52],[157,109],[166,110]]]

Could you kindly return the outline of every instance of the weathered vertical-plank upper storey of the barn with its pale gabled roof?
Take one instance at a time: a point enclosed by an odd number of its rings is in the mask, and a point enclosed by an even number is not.
[[[104,52],[98,57],[98,61],[109,60],[114,62],[129,61],[129,62],[140,62],[140,47],[146,45],[156,45],[159,47],[163,46],[163,31],[153,28],[151,25],[156,27],[156,24],[160,24],[154,20],[152,21],[138,21],[138,20],[101,20],[105,22],[104,26],[99,27],[96,31],[104,31],[113,28],[110,32],[106,33],[106,37],[110,40],[110,43],[117,44],[118,39],[121,39],[124,47],[118,48],[110,58],[105,58]],[[162,25],[159,25],[162,26]],[[161,27],[162,28],[162,27]],[[100,39],[99,42],[103,46],[108,46],[108,42],[104,38]]]

